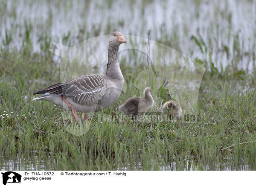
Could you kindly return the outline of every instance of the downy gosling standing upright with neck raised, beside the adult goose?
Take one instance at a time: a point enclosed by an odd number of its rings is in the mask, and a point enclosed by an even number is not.
[[[139,116],[146,112],[154,104],[154,99],[151,96],[151,89],[146,87],[143,92],[143,97],[129,98],[123,105],[119,107],[119,110],[128,116]]]

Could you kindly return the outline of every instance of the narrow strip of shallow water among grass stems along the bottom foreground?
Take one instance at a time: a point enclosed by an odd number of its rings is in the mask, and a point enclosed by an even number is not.
[[[48,157],[50,159],[50,156]],[[164,158],[164,157],[163,157]],[[160,160],[159,160],[160,161]],[[55,160],[54,160],[55,162]],[[46,164],[48,166],[46,166]],[[55,163],[58,164],[57,161]],[[143,169],[143,161],[138,161],[137,163],[131,164],[129,163],[129,166],[123,166],[121,169],[119,169],[119,165],[116,163],[113,163],[112,168],[113,170],[122,171],[122,170],[144,170]],[[228,157],[226,162],[224,163],[218,163],[216,165],[212,165],[211,163],[202,163],[197,162],[195,160],[185,159],[183,161],[183,165],[177,165],[177,162],[174,160],[173,162],[168,162],[169,165],[163,166],[161,163],[154,163],[154,160],[151,160],[151,166],[153,167],[151,170],[183,170],[183,171],[195,171],[195,170],[220,170],[220,171],[249,171],[252,170],[249,165],[243,162],[241,160],[241,164],[237,167],[234,165],[233,160],[231,157]],[[181,168],[183,167],[183,168]],[[95,167],[95,169],[97,169]],[[35,156],[33,158],[33,161],[31,159],[26,160],[22,158],[16,158],[15,160],[9,160],[9,158],[6,158],[2,156],[1,162],[0,162],[0,170],[54,170],[51,167],[51,162],[40,160],[38,161],[38,156]],[[84,170],[88,170],[88,168],[84,167]]]

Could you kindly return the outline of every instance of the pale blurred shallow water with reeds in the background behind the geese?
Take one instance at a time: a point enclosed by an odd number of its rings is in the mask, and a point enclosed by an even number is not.
[[[250,72],[255,61],[255,5],[255,0],[6,1],[0,6],[0,43],[5,43],[7,33],[12,40],[9,46],[2,47],[21,49],[27,30],[33,52],[42,52],[44,38],[72,46],[113,30],[144,38],[151,30],[152,40],[164,41],[191,58],[209,61],[210,50],[212,61],[219,68],[232,66],[230,56],[239,55],[239,68]],[[192,35],[199,40],[201,35],[206,53],[201,52]],[[229,56],[224,46],[228,47]]]

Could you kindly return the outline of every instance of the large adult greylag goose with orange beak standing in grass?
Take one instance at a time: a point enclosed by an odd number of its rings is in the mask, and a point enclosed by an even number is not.
[[[124,78],[117,60],[119,45],[127,41],[121,32],[112,32],[108,46],[108,64],[105,74],[81,76],[70,81],[53,84],[35,94],[43,94],[36,99],[53,102],[66,110],[71,110],[78,121],[76,112],[84,113],[84,121],[90,111],[99,111],[112,105],[119,98]]]

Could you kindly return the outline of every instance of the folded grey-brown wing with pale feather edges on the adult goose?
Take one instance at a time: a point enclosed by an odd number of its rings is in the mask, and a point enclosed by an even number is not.
[[[64,83],[57,83],[38,93],[51,93],[56,96],[65,96],[79,105],[90,105],[97,103],[105,94],[105,79],[102,75],[91,74],[82,76]]]

